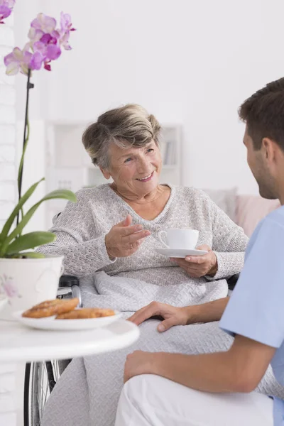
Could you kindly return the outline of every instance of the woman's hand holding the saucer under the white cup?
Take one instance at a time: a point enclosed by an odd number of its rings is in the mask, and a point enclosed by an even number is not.
[[[178,263],[178,266],[192,278],[200,278],[204,275],[214,276],[218,271],[217,257],[214,251],[204,244],[197,247],[198,250],[207,250],[208,253],[203,256],[187,256],[186,258],[171,258],[171,261]]]

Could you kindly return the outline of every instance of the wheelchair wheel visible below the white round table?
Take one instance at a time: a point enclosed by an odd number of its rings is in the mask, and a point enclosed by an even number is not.
[[[70,360],[26,364],[23,394],[24,426],[40,426],[45,403]]]

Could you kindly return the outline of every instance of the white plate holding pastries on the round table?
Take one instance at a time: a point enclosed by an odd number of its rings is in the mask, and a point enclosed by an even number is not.
[[[111,322],[118,320],[121,317],[121,313],[114,311],[115,315],[110,317],[101,317],[101,318],[86,318],[81,320],[55,320],[55,315],[53,317],[45,318],[27,318],[22,317],[24,311],[13,312],[13,317],[21,322],[22,324],[27,325],[28,327],[44,330],[87,330],[94,329],[97,327],[104,327],[109,325]]]

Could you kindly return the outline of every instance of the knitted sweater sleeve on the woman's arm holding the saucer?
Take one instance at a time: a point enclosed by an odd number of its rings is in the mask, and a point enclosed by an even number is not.
[[[244,229],[236,225],[211,199],[209,208],[212,214],[212,250],[217,256],[218,271],[214,277],[206,275],[206,278],[230,278],[241,272],[244,266],[244,252],[249,238]]]

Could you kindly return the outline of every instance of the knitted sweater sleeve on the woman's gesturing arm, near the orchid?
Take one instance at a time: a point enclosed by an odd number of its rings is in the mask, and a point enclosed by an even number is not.
[[[78,195],[77,202],[68,202],[60,216],[55,219],[50,229],[50,232],[56,235],[55,241],[40,246],[38,251],[64,255],[65,274],[78,278],[91,275],[116,261],[109,259],[105,235],[92,238],[91,229],[94,229],[92,210]]]

